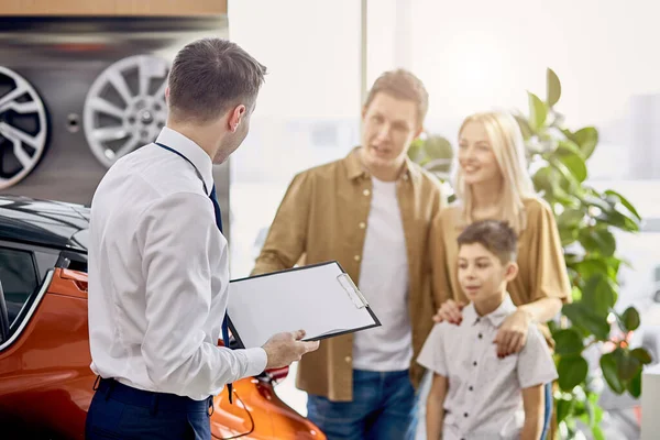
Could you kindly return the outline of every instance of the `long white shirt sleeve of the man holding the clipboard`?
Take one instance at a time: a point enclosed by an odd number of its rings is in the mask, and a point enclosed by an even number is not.
[[[211,309],[209,256],[218,255],[220,246],[220,255],[227,252],[210,200],[191,193],[163,198],[143,212],[136,237],[143,244],[146,283],[141,349],[157,389],[211,395],[228,383],[261,373],[267,362],[263,349],[218,346],[205,332]]]

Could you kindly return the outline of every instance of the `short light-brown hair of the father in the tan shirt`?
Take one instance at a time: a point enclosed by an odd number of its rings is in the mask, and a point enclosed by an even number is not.
[[[369,107],[377,94],[386,94],[396,99],[415,102],[419,123],[424,122],[429,110],[429,94],[421,79],[408,70],[396,69],[382,74],[369,91],[364,107]]]

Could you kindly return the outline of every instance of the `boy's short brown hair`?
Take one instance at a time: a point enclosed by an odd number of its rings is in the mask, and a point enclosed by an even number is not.
[[[459,235],[459,248],[479,243],[495,254],[502,264],[517,258],[518,238],[506,221],[480,220],[470,224]]]

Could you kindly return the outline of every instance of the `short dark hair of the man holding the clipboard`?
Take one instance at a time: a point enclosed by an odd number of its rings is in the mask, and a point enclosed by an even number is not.
[[[238,44],[202,38],[182,48],[169,72],[169,111],[178,120],[209,122],[239,103],[253,105],[266,67]]]

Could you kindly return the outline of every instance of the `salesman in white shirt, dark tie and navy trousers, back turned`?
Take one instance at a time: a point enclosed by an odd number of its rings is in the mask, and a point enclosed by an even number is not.
[[[100,380],[88,439],[210,439],[213,395],[318,348],[304,331],[263,348],[217,345],[221,329],[228,340],[229,252],[212,164],[245,139],[265,73],[234,43],[188,44],[169,73],[167,127],[97,188],[88,307]]]

